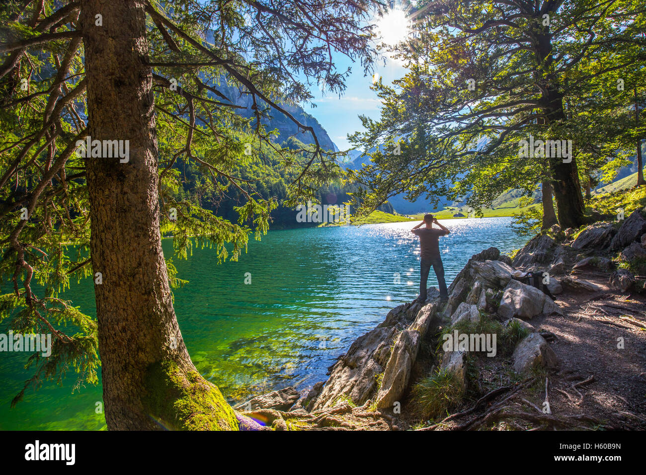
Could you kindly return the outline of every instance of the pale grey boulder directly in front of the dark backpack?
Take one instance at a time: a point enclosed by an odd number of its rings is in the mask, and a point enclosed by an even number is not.
[[[532,319],[541,313],[563,313],[557,304],[536,287],[510,280],[498,306],[503,319]]]

